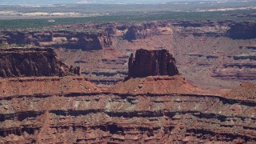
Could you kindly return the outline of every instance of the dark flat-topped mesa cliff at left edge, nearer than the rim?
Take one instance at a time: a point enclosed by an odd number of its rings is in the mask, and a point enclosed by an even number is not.
[[[80,74],[77,66],[66,66],[53,49],[12,48],[0,50],[0,77],[65,76]]]

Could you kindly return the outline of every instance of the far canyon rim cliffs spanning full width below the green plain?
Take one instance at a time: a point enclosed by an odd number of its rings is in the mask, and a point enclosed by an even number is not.
[[[234,21],[158,21],[135,24],[78,24],[57,26],[60,30],[0,31],[0,43],[64,47],[68,49],[102,50],[112,46],[112,38],[124,31],[123,38],[129,42],[158,35],[175,34],[187,36],[229,37],[238,39],[255,38],[255,24]],[[61,30],[63,29],[63,30]],[[74,30],[73,30],[74,29]],[[78,29],[81,29],[78,31]]]

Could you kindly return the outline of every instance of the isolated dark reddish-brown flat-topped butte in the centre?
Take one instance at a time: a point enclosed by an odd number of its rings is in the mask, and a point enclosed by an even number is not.
[[[142,78],[154,75],[176,75],[178,68],[175,58],[167,50],[136,50],[129,58],[129,74],[131,78]]]

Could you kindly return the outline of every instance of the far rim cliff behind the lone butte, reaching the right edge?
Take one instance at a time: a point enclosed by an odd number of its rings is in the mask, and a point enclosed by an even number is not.
[[[175,34],[201,37],[255,38],[255,24],[234,21],[158,21],[128,26],[123,38],[128,41],[150,38],[155,35]]]

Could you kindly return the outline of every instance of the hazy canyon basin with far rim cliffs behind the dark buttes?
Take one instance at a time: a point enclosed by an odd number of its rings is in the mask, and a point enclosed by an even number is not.
[[[255,27],[254,22],[230,20],[86,23],[1,30],[0,43],[53,47],[63,62],[80,66],[98,86],[126,78],[130,54],[137,49],[166,49],[190,82],[218,90],[256,81]]]

